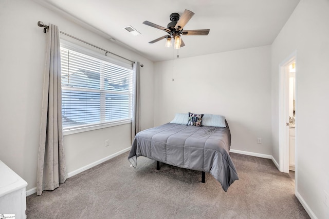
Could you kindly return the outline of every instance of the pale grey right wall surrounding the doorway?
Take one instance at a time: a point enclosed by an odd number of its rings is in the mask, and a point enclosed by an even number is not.
[[[279,64],[297,50],[296,195],[312,217],[328,218],[329,1],[301,0],[272,44],[273,157],[279,161]]]

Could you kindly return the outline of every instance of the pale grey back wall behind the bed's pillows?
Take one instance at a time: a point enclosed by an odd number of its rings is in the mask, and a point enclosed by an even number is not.
[[[175,113],[226,116],[231,149],[271,155],[271,48],[234,50],[155,63],[154,124]],[[257,144],[261,137],[263,144]]]

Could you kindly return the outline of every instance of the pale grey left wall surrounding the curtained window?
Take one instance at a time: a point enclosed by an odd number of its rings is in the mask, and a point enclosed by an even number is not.
[[[19,174],[27,190],[36,186],[39,150],[43,67],[46,35],[38,21],[123,57],[139,61],[141,68],[141,128],[153,126],[153,62],[125,47],[113,44],[30,0],[0,3],[0,160]],[[93,30],[96,31],[96,30]],[[97,32],[97,31],[96,31]],[[104,147],[104,141],[110,146]],[[131,146],[131,124],[64,136],[67,171],[111,156]],[[129,165],[129,162],[127,162]]]

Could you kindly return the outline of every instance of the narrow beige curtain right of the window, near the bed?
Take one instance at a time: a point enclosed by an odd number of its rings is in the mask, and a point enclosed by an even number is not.
[[[140,64],[135,62],[133,65],[133,123],[132,123],[132,142],[135,135],[140,132]]]

